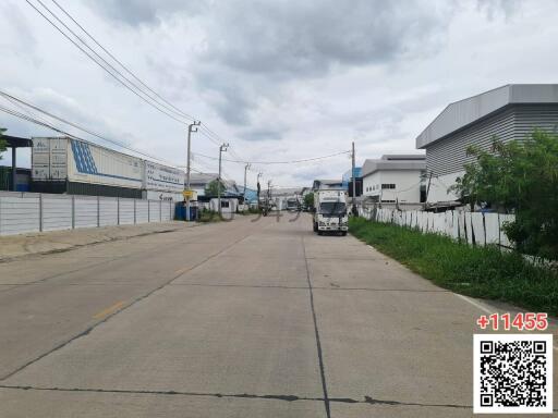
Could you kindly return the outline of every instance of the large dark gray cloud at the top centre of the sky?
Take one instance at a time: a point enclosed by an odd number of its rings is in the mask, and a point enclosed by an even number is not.
[[[246,73],[307,76],[428,52],[449,7],[418,1],[238,2],[209,24],[205,58]]]

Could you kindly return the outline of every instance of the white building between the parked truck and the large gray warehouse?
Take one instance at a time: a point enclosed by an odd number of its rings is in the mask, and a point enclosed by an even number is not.
[[[362,167],[363,197],[378,204],[420,204],[424,200],[425,156],[386,155]]]

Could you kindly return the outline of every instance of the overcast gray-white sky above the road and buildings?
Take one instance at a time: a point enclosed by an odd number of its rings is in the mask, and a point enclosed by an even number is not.
[[[52,0],[40,1],[63,17]],[[29,2],[48,15],[39,0]],[[349,150],[352,140],[357,164],[417,152],[415,137],[449,102],[508,83],[558,79],[554,0],[57,2],[149,87],[228,140],[230,159],[312,158]],[[27,2],[2,0],[0,13],[3,91],[184,164],[183,124],[123,88]],[[52,134],[4,113],[0,125],[12,135]],[[193,151],[216,157],[218,146],[194,134]],[[193,164],[217,171],[199,155]],[[348,169],[348,156],[254,164],[248,184],[258,171],[293,186]],[[242,182],[243,164],[223,170]]]

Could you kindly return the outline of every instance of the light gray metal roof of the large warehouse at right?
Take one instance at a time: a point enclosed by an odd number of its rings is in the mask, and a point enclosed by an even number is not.
[[[558,103],[558,84],[508,84],[450,103],[416,137],[416,148],[425,148],[508,106],[529,103]]]

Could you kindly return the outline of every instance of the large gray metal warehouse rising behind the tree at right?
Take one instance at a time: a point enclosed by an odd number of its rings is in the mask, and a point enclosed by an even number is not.
[[[470,145],[489,149],[493,136],[524,139],[534,128],[556,131],[557,125],[556,84],[510,84],[448,104],[416,137],[416,148],[426,150],[427,202],[450,206],[456,200],[448,187],[472,161]]]

